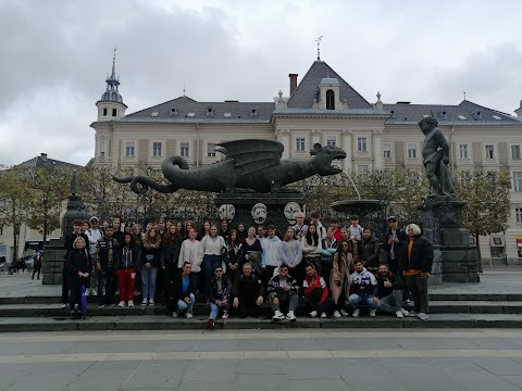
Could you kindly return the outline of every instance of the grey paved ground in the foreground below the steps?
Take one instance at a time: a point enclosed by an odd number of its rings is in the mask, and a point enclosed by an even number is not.
[[[0,390],[521,390],[522,332],[0,335]]]

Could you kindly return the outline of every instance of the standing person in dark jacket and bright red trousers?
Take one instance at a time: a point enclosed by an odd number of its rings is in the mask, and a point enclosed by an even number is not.
[[[120,288],[120,303],[117,306],[123,308],[125,302],[129,308],[134,307],[134,288],[136,285],[136,264],[139,261],[140,251],[136,245],[133,234],[125,232],[123,242],[116,258],[116,277]]]

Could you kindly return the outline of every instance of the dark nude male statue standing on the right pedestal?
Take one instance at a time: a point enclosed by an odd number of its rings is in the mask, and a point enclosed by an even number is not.
[[[422,147],[424,168],[433,189],[432,195],[455,195],[453,181],[448,169],[449,144],[437,125],[434,117],[425,117],[419,122],[419,127],[426,136]]]

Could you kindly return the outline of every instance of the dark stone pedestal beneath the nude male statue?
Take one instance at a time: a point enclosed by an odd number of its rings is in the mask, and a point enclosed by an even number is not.
[[[476,247],[470,244],[470,232],[462,227],[464,205],[452,198],[431,197],[421,206],[422,231],[435,251],[433,285],[480,282]]]

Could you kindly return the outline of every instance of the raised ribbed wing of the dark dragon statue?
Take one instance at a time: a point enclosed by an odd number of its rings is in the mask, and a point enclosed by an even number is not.
[[[234,166],[244,175],[279,164],[284,147],[273,140],[235,140],[219,143],[216,151],[234,160]]]

